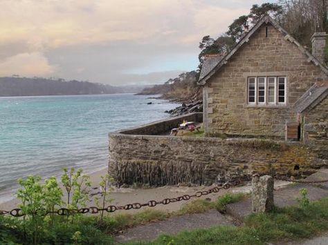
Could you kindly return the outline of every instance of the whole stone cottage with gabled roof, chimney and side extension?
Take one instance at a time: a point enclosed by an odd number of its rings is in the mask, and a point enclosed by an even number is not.
[[[326,36],[311,37],[310,54],[266,16],[226,55],[207,57],[199,77],[206,135],[283,139],[302,123],[302,139],[327,149]]]

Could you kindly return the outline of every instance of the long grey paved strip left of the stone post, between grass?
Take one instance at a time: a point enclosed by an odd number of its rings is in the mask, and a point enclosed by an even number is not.
[[[217,210],[210,210],[206,213],[172,217],[162,222],[130,228],[118,235],[116,241],[127,242],[133,239],[152,240],[161,234],[175,234],[183,230],[206,228],[218,224],[234,225],[231,217],[221,215]]]

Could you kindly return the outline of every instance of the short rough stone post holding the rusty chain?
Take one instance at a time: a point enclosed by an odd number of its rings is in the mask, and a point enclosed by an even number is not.
[[[252,210],[264,213],[273,209],[273,177],[255,176],[252,179]]]

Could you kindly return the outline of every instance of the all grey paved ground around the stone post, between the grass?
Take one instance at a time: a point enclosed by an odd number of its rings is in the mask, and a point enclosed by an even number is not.
[[[322,180],[328,179],[328,169],[320,170],[308,177],[307,180]],[[297,204],[296,199],[300,197],[300,188],[307,188],[308,197],[311,200],[321,199],[328,196],[328,184],[290,184],[285,188],[275,190],[275,205],[284,207]],[[161,234],[176,234],[183,230],[192,230],[196,228],[206,228],[215,225],[234,225],[234,219],[242,219],[251,212],[251,200],[245,199],[235,204],[229,204],[227,207],[229,215],[221,215],[217,210],[210,210],[207,213],[183,215],[180,217],[172,217],[162,222],[147,224],[144,226],[137,226],[124,231],[121,235],[116,237],[118,242],[127,242],[132,239],[152,240]],[[231,216],[230,216],[231,215]],[[233,218],[232,218],[233,217]],[[316,239],[309,239],[303,244],[328,244],[328,234]],[[321,242],[321,243],[320,243]],[[302,242],[298,242],[298,245]],[[290,245],[294,245],[291,243]]]

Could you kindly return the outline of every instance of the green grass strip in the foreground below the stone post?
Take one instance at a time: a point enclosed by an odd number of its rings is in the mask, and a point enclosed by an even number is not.
[[[328,229],[328,197],[306,207],[276,208],[271,213],[253,214],[244,226],[215,226],[161,235],[153,242],[127,244],[266,244],[308,238]]]

